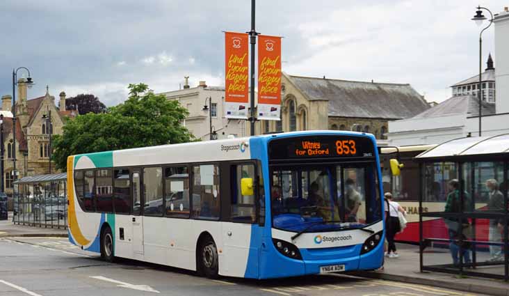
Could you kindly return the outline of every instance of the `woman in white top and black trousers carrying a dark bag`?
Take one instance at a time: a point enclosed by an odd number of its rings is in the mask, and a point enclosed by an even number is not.
[[[386,218],[385,218],[385,229],[386,229],[386,235],[387,235],[387,242],[389,244],[387,248],[387,254],[386,256],[389,258],[398,258],[399,255],[396,252],[396,244],[394,243],[394,236],[396,236],[396,233],[402,231],[401,224],[399,221],[398,212],[401,212],[403,215],[405,215],[405,210],[401,208],[401,205],[399,203],[396,203],[396,201],[392,201],[392,194],[390,192],[386,192],[384,194],[385,196],[385,212],[386,212]]]

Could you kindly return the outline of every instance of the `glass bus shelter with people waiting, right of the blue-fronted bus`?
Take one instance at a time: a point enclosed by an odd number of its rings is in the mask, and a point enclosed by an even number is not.
[[[509,279],[509,134],[442,143],[415,158],[421,271]]]

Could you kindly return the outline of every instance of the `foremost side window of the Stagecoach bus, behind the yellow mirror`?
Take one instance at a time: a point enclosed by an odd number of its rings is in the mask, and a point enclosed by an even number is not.
[[[241,180],[255,180],[254,164],[239,164],[231,167],[232,173],[232,205],[231,215],[234,222],[256,222],[256,204],[253,195],[242,195]]]

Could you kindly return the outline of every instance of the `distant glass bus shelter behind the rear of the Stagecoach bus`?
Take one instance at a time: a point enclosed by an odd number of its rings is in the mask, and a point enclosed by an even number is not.
[[[16,180],[13,197],[14,224],[67,228],[67,173]]]

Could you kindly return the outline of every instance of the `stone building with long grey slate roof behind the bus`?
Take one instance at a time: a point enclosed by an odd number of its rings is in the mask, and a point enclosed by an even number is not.
[[[347,81],[282,74],[282,120],[261,120],[258,133],[353,130],[386,139],[389,120],[429,108],[410,84]],[[248,131],[249,132],[249,131]]]

